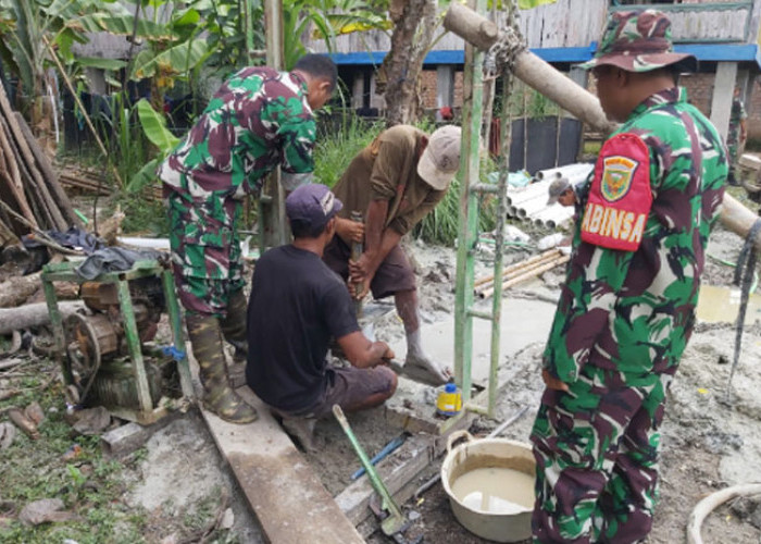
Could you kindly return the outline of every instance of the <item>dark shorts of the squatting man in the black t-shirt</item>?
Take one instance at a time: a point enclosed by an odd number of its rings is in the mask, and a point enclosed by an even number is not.
[[[350,411],[367,397],[390,393],[396,374],[388,367],[358,369],[355,367],[329,367],[325,393],[307,410],[290,413],[295,417],[325,418],[333,413],[333,405]],[[332,379],[332,380],[330,380]]]

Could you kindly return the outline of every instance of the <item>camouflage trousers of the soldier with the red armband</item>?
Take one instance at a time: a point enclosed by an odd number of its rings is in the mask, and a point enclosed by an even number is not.
[[[675,371],[631,375],[587,364],[567,393],[545,391],[531,436],[535,543],[624,544],[650,532]]]

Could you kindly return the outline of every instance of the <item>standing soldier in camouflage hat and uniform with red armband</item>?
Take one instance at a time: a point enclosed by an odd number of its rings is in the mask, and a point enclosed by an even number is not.
[[[535,542],[632,543],[658,498],[665,392],[695,323],[726,151],[687,103],[671,23],[614,13],[594,67],[622,122],[600,150],[542,357]]]

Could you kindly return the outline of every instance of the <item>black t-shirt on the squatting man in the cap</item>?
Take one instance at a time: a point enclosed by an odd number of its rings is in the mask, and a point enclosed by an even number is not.
[[[257,262],[247,327],[246,381],[286,411],[312,407],[325,391],[330,336],[360,330],[341,279],[316,254],[290,245]]]

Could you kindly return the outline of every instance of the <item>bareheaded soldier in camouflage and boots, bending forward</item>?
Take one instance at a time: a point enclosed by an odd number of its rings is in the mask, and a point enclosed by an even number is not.
[[[223,337],[246,349],[237,233],[241,200],[276,165],[286,190],[310,183],[315,122],[336,86],[330,59],[307,54],[292,72],[246,67],[216,91],[159,169],[170,214],[172,269],[185,307],[203,404],[234,423],[257,418],[229,385]]]

